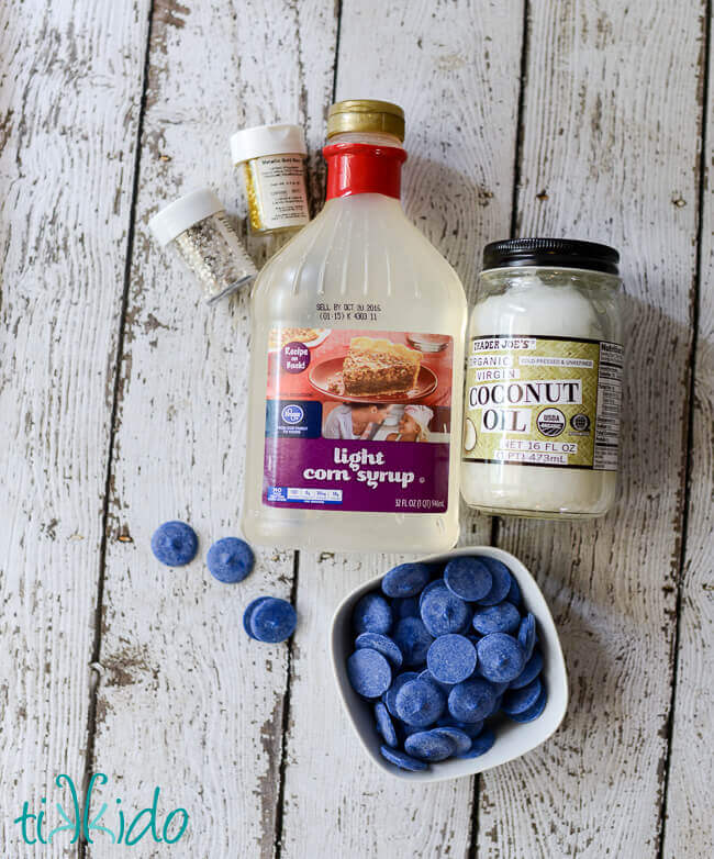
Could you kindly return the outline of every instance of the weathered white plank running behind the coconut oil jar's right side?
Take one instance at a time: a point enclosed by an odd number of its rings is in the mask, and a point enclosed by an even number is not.
[[[478,856],[658,852],[687,453],[703,3],[531,4],[521,235],[621,248],[622,498],[595,524],[503,522],[562,636],[561,729],[486,773]],[[678,854],[678,856],[683,854]]]

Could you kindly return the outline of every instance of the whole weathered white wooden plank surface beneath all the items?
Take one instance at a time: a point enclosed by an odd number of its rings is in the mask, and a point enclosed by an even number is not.
[[[185,805],[170,850],[192,859],[711,855],[707,4],[149,4],[0,13],[3,855],[40,855],[12,818],[87,767],[110,803],[145,805],[159,784],[164,814]],[[482,245],[514,226],[621,247],[633,312],[615,513],[493,533],[462,516],[462,543],[495,537],[550,600],[566,722],[521,761],[419,790],[364,758],[325,649],[338,599],[393,558],[268,548],[226,588],[148,549],[168,517],[194,524],[202,554],[235,533],[249,344],[246,297],[208,310],[146,219],[201,182],[242,216],[227,136],[274,120],[305,125],[319,205],[335,75],[338,98],[405,108],[406,211],[471,298]],[[243,634],[265,591],[297,601],[290,647]]]

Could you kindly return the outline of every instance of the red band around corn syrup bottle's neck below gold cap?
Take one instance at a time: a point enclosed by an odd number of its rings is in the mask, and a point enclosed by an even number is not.
[[[356,193],[381,193],[399,200],[406,153],[398,146],[331,143],[322,150],[327,161],[327,200]]]

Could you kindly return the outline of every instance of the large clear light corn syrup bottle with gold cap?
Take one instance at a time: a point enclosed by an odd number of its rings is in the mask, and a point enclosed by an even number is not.
[[[286,548],[458,537],[467,306],[400,205],[404,114],[333,104],[327,201],[253,292],[243,529]]]

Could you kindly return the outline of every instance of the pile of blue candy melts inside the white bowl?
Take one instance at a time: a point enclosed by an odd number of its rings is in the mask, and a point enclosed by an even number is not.
[[[545,710],[536,620],[495,558],[400,564],[357,602],[353,629],[347,676],[397,767],[484,755],[503,717]]]

